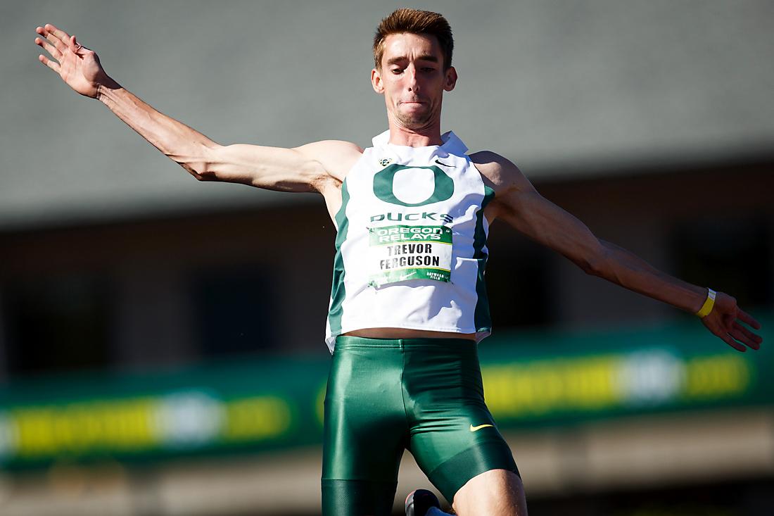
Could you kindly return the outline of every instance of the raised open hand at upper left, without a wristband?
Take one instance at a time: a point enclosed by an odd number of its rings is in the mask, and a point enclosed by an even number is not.
[[[75,36],[70,36],[51,24],[37,27],[35,32],[45,38],[35,38],[36,45],[43,47],[56,61],[43,54],[38,56],[38,60],[57,72],[62,80],[80,95],[97,98],[101,85],[118,87],[104,72],[97,54],[85,46],[80,46]]]

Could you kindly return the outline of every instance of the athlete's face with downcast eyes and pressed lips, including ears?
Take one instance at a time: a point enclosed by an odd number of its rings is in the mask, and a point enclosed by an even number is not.
[[[444,71],[444,54],[435,36],[390,34],[382,66],[371,71],[374,90],[385,96],[387,116],[407,129],[440,121],[444,91],[457,83],[454,67]]]

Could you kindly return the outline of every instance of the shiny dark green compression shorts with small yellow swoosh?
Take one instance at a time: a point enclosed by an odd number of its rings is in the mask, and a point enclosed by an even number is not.
[[[323,514],[389,515],[404,449],[450,503],[480,473],[518,475],[494,425],[474,342],[338,337],[325,395]]]

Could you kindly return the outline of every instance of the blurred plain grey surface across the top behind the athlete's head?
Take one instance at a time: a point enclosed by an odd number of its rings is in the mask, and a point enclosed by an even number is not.
[[[386,127],[370,41],[398,6],[2,2],[0,229],[315,200],[197,183],[39,64],[37,25],[75,33],[126,88],[220,143],[368,146]],[[768,0],[421,7],[455,34],[444,128],[529,177],[772,155]]]

